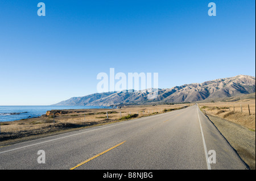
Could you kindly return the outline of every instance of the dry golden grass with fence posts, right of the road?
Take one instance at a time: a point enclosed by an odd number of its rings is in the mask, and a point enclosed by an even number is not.
[[[248,107],[249,105],[249,107]],[[237,102],[200,103],[201,110],[255,131],[255,100]],[[249,115],[250,108],[250,115]]]

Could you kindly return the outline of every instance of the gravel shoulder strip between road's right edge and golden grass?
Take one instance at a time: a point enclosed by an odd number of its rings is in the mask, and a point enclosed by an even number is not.
[[[255,170],[255,131],[217,116],[205,115],[208,116],[209,120],[212,121],[250,169]]]

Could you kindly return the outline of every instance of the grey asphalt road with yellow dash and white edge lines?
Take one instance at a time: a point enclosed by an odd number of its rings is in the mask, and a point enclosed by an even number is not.
[[[214,170],[247,166],[195,105],[4,146],[0,148],[0,169]]]

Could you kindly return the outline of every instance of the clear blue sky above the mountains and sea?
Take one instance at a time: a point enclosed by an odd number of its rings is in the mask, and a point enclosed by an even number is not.
[[[159,88],[255,76],[255,1],[0,1],[0,105],[93,94],[110,68]]]

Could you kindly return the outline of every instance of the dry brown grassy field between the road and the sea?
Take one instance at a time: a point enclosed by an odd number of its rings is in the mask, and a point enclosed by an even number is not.
[[[69,110],[70,113],[61,114],[51,111],[47,112],[47,116],[1,122],[0,146],[95,125],[151,116],[190,105],[192,104],[159,104],[156,106],[129,106],[121,109]],[[55,112],[54,119],[53,112]],[[106,112],[108,112],[108,119]]]

